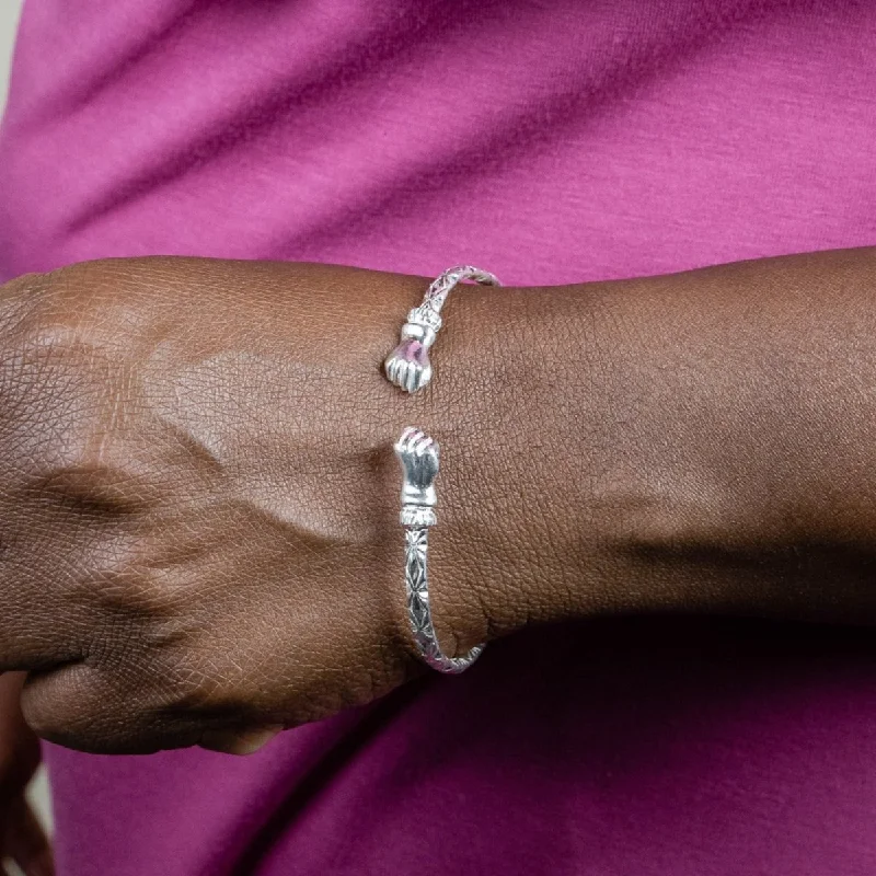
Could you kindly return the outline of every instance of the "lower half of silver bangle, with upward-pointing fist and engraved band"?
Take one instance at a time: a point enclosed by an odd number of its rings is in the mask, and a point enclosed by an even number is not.
[[[401,522],[405,539],[405,591],[407,618],[414,643],[423,659],[439,672],[457,675],[468,669],[480,656],[484,645],[476,645],[460,657],[448,657],[438,644],[429,607],[429,527],[437,518],[435,477],[439,468],[438,442],[422,429],[408,426],[395,445],[402,465]]]

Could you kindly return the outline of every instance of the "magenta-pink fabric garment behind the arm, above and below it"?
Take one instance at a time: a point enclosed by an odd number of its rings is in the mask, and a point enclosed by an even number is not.
[[[107,255],[507,283],[876,237],[867,0],[39,0],[0,274]],[[233,760],[50,749],[61,873],[871,876],[867,631],[532,632]]]

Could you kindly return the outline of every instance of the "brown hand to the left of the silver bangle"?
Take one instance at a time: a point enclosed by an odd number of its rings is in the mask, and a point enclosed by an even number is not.
[[[41,736],[247,751],[418,670],[392,441],[426,408],[380,364],[423,288],[206,260],[4,287],[0,666]],[[483,636],[476,601],[446,616]]]

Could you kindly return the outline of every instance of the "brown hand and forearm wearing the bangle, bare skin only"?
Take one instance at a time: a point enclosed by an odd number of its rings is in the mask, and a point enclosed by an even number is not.
[[[415,396],[380,365],[422,278],[173,258],[20,278],[0,669],[30,671],[36,733],[100,752],[245,751],[402,683],[407,425],[441,442],[447,650],[595,614],[876,622],[875,275],[858,250],[465,289]]]

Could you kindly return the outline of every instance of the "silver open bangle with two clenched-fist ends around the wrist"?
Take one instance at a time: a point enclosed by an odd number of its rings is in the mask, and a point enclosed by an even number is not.
[[[486,270],[464,265],[450,268],[429,286],[423,303],[407,314],[402,339],[384,362],[387,377],[405,392],[416,392],[431,380],[428,350],[441,327],[440,311],[447,296],[462,279],[499,286]],[[402,510],[405,538],[405,592],[407,619],[420,657],[439,672],[457,675],[468,669],[485,645],[475,645],[460,657],[448,657],[438,644],[429,606],[429,527],[437,522],[435,477],[439,468],[438,442],[422,429],[408,426],[395,445],[402,464]]]

